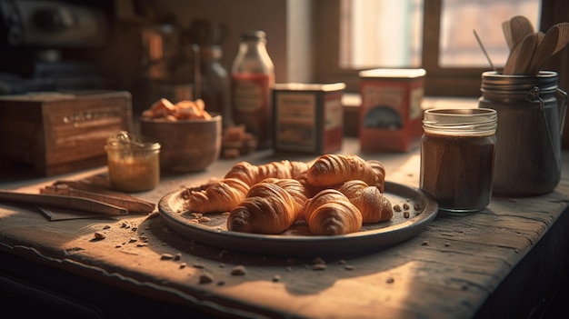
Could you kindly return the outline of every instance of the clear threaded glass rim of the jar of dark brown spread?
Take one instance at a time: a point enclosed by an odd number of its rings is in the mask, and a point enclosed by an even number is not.
[[[434,108],[424,111],[423,128],[441,135],[491,135],[497,122],[497,112],[491,108]]]

